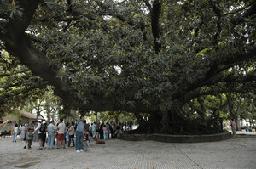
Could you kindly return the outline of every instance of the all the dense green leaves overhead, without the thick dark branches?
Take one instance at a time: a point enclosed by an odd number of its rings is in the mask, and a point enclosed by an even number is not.
[[[5,2],[7,9],[1,14],[20,11],[19,3]],[[103,96],[129,108],[152,106],[154,111],[164,105],[170,110],[206,96],[210,116],[219,110],[219,95],[255,93],[255,81],[231,81],[255,76],[255,56],[232,62],[233,55],[255,48],[255,17],[242,16],[253,1],[160,3],[158,38],[152,34],[153,1],[138,0],[73,0],[72,4],[48,0],[37,8],[26,33],[58,71],[54,78],[67,82],[82,104]],[[156,42],[159,51],[154,48]],[[1,56],[1,74],[9,74],[0,80],[2,111],[25,104],[30,96],[41,98],[46,82],[15,57],[3,52]],[[110,114],[102,113],[102,118],[116,116]],[[127,121],[134,118],[124,115]]]

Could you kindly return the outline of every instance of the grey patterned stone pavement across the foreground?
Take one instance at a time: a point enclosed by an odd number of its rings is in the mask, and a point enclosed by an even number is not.
[[[24,142],[0,138],[0,168],[171,169],[256,168],[256,137],[239,135],[212,143],[171,144],[154,141],[130,142],[110,139],[90,142],[90,151],[74,148],[23,149]]]

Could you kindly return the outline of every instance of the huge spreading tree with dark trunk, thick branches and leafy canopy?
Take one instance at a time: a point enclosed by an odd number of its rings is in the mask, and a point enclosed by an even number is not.
[[[147,133],[211,133],[183,105],[255,92],[255,8],[253,0],[3,0],[1,48],[66,105],[147,113],[138,128]]]

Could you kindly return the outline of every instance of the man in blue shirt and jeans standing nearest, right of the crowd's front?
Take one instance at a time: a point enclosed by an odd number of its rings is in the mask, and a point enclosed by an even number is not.
[[[84,151],[82,149],[83,139],[84,139],[84,116],[79,118],[79,109],[78,109],[78,121],[77,121],[77,130],[76,130],[76,152],[79,153]]]

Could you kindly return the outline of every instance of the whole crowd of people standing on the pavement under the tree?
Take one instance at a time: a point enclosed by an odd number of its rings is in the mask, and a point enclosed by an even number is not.
[[[90,138],[99,138],[107,140],[109,135],[111,138],[120,138],[122,133],[122,126],[116,126],[114,123],[110,125],[108,122],[106,124],[96,124],[96,122],[90,124],[86,123],[84,116],[79,115],[78,110],[78,120],[75,123],[72,121],[70,123],[64,123],[62,119],[58,121],[55,125],[55,121],[49,121],[47,124],[41,121],[29,121],[20,127],[20,139],[26,140],[26,145],[24,149],[31,149],[32,140],[38,138],[38,150],[43,150],[44,144],[47,138],[47,149],[66,149],[66,144],[71,147],[72,144],[76,148],[76,152],[88,151],[90,150],[89,141]],[[17,134],[19,132],[19,127],[17,124],[13,127],[13,142],[16,142]],[[55,138],[57,143],[55,145]],[[74,141],[74,138],[76,141]]]

